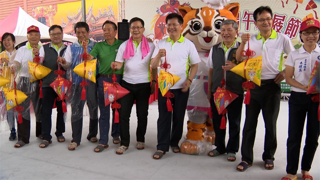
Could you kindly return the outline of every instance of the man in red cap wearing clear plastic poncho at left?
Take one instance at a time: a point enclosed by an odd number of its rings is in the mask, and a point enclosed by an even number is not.
[[[34,53],[38,52],[40,45],[40,31],[36,26],[27,29],[28,42],[17,50],[14,61],[9,64],[11,72],[15,73],[17,89],[24,92],[28,98],[20,105],[24,107],[21,112],[22,123],[18,123],[18,142],[14,145],[19,148],[29,143],[30,139],[30,100],[36,114],[36,136],[41,135],[40,101],[39,101],[39,80],[30,82],[28,61],[33,61]]]

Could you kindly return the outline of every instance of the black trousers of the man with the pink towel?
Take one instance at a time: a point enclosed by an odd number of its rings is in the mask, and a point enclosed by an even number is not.
[[[150,98],[150,82],[148,83],[138,83],[130,84],[122,80],[122,87],[130,91],[129,94],[125,95],[120,99],[121,108],[119,110],[119,123],[120,123],[120,139],[121,145],[129,147],[130,143],[130,131],[129,131],[129,121],[130,114],[134,100],[136,100],[136,111],[138,118],[137,126],[137,141],[145,141],[144,136],[147,131],[148,123],[148,109],[149,109],[149,98]]]

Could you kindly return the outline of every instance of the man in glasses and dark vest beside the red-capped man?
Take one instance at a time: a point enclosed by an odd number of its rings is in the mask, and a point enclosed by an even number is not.
[[[44,78],[42,78],[42,93],[43,98],[41,99],[41,125],[42,125],[42,136],[44,141],[40,144],[40,148],[45,148],[51,143],[51,114],[52,106],[55,99],[58,97],[57,93],[54,92],[50,84],[57,78],[58,75],[54,74],[55,70],[58,70],[57,59],[62,57],[66,46],[62,43],[63,33],[62,28],[59,25],[53,25],[49,28],[49,34],[51,42],[43,45],[39,51],[35,51],[35,55],[44,58],[42,65],[50,68],[52,71]],[[61,70],[64,70],[61,68]],[[62,75],[66,78],[66,75]],[[62,101],[56,101],[57,106],[57,124],[56,132],[57,140],[59,143],[64,142],[65,138],[62,133],[65,132],[65,123],[63,119]]]

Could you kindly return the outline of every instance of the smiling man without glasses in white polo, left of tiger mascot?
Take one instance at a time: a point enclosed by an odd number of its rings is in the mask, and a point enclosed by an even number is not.
[[[159,90],[158,144],[157,151],[153,155],[154,159],[161,159],[165,152],[169,151],[170,146],[173,152],[180,152],[178,144],[183,132],[189,86],[197,73],[197,63],[200,62],[195,45],[180,34],[183,18],[176,13],[171,13],[166,17],[165,21],[169,37],[159,41],[156,45],[156,49],[152,54],[151,67],[156,69],[160,61],[163,64],[166,56],[167,63],[171,65],[168,71],[181,79],[169,90],[174,95],[173,98],[170,98],[173,111],[167,110],[167,98],[163,97]],[[190,74],[189,64],[191,64]]]

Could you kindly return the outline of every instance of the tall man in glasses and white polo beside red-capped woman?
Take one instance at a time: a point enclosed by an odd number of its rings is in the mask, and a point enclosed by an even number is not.
[[[241,44],[236,51],[237,61],[241,61],[241,51],[248,48],[257,57],[262,55],[261,86],[255,85],[250,90],[250,104],[246,105],[245,123],[241,145],[242,162],[237,170],[245,171],[253,162],[253,144],[256,135],[258,116],[262,110],[266,135],[262,160],[266,169],[273,169],[274,154],[276,152],[276,121],[280,108],[280,82],[284,80],[285,70],[282,70],[282,55],[294,50],[290,39],[272,29],[272,10],[268,6],[260,6],[253,12],[254,24],[260,33],[250,36],[243,34]]]

